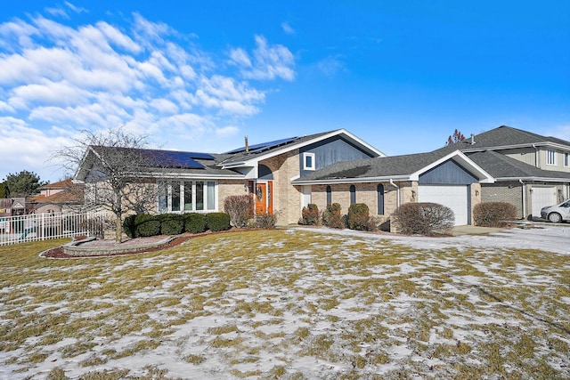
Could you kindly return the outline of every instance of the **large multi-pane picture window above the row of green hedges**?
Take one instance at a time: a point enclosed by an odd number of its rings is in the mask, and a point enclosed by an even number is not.
[[[159,213],[217,210],[215,181],[159,181]]]

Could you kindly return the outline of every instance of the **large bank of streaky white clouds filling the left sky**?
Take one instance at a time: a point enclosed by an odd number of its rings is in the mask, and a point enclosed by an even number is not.
[[[71,18],[85,12],[70,3],[62,11]],[[138,13],[120,26],[100,20],[71,27],[67,19],[28,17],[0,23],[0,128],[20,131],[16,140],[4,140],[12,146],[3,157],[30,166],[34,160],[34,167],[47,158],[45,147],[68,141],[77,129],[125,125],[173,143],[232,136],[238,129],[231,125],[258,113],[269,91],[234,77],[236,67],[242,78],[295,77],[289,50],[262,36],[250,54],[232,49],[228,66],[216,58],[223,52],[205,52]],[[12,151],[26,138],[34,156]],[[5,165],[0,163],[0,175],[11,167]]]

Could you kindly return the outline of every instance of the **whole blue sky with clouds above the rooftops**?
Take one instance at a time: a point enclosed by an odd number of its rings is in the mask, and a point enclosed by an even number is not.
[[[124,125],[223,152],[346,128],[387,155],[455,128],[570,140],[570,2],[22,1],[0,12],[0,180]]]

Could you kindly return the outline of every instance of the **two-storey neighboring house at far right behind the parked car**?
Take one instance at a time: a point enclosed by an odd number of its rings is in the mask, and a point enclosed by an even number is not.
[[[493,175],[482,201],[509,202],[519,218],[570,198],[570,141],[502,125],[436,151],[461,150]]]

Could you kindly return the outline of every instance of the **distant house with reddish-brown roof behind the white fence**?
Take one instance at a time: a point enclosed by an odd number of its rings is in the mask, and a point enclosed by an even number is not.
[[[72,180],[48,183],[37,196],[27,199],[28,208],[37,214],[77,211],[84,205],[84,184]]]

